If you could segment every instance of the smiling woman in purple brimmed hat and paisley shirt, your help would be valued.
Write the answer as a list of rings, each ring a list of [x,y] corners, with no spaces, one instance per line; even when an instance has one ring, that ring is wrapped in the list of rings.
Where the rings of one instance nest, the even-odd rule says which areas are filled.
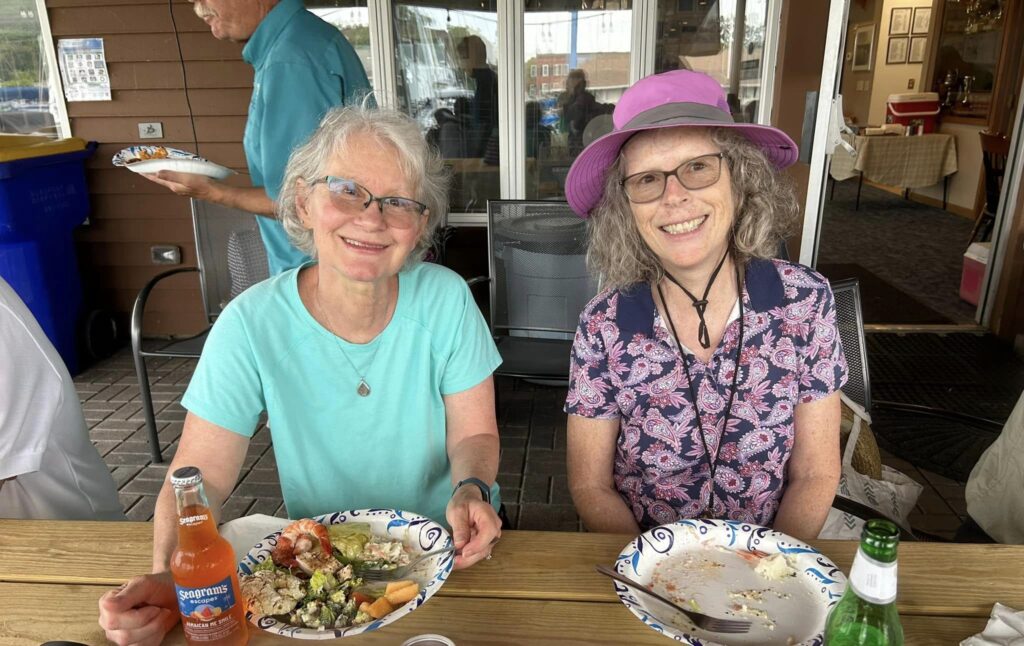
[[[840,476],[847,368],[828,283],[773,259],[798,203],[781,131],[689,71],[626,91],[575,160],[604,290],[580,316],[568,481],[588,528],[727,518],[813,539]],[[738,367],[738,368],[737,368]]]

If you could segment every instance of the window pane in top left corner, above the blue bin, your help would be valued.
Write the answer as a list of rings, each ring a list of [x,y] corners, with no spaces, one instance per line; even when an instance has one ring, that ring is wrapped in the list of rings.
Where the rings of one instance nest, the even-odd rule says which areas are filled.
[[[58,136],[35,0],[0,2],[0,132]]]

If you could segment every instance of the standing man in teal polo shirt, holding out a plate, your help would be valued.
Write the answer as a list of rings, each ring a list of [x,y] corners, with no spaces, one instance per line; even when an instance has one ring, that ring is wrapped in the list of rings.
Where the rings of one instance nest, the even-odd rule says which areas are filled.
[[[243,143],[252,187],[203,175],[146,175],[179,196],[257,215],[270,275],[307,260],[292,247],[275,217],[275,202],[292,149],[306,140],[328,110],[362,100],[366,70],[341,32],[305,9],[302,0],[195,0],[213,37],[246,43],[242,57],[255,72]]]

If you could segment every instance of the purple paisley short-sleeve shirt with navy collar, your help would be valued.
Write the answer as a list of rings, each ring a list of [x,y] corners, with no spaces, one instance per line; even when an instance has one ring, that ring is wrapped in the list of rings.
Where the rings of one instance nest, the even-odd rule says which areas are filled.
[[[689,355],[698,420],[683,358],[648,285],[605,291],[580,316],[565,411],[620,421],[614,484],[641,527],[702,514],[771,525],[785,487],[796,406],[846,383],[824,277],[781,260],[753,260],[742,299],[728,428],[738,318],[707,364]]]

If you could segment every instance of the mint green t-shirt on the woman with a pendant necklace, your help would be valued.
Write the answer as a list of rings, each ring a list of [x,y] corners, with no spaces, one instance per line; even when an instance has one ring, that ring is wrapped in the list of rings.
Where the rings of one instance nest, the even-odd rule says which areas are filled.
[[[291,518],[393,508],[446,524],[443,396],[476,386],[501,363],[469,288],[435,264],[402,270],[391,321],[358,345],[312,317],[299,298],[299,271],[228,304],[182,405],[247,437],[266,411]],[[359,374],[346,354],[369,396],[356,394]],[[497,508],[497,484],[492,501]]]

